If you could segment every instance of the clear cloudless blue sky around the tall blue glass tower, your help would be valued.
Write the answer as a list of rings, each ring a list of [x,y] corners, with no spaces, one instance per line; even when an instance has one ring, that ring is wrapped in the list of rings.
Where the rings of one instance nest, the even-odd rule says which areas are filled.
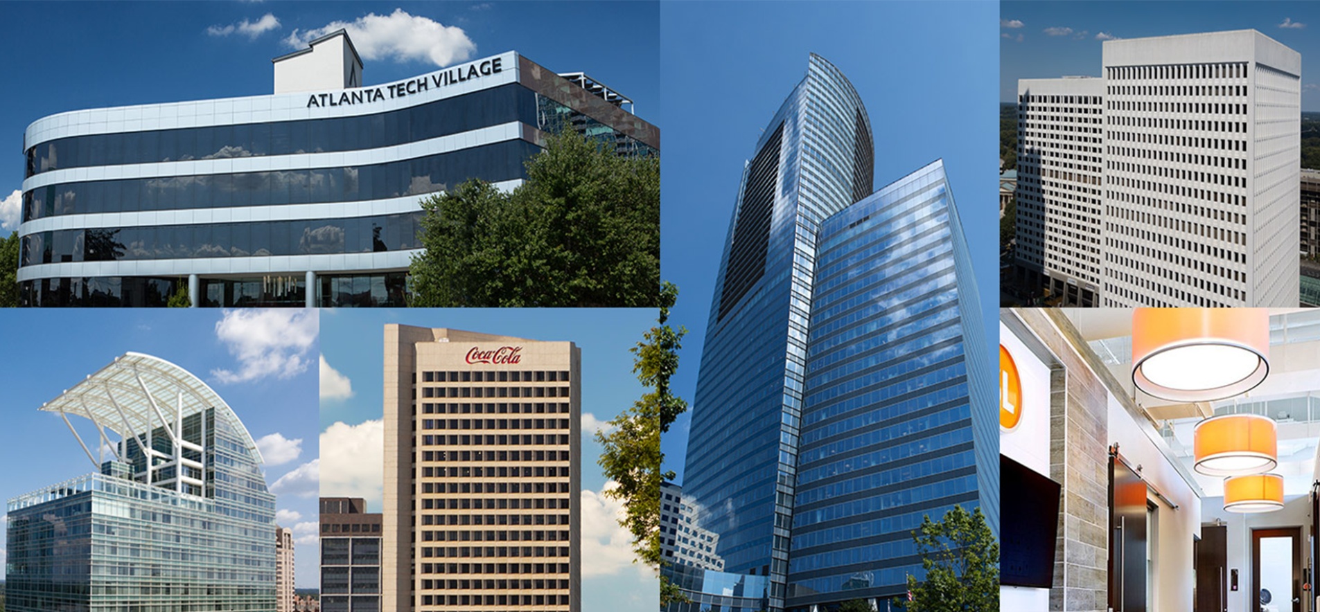
[[[688,327],[675,390],[692,401],[714,277],[743,161],[818,53],[871,116],[875,187],[936,158],[970,235],[986,322],[997,321],[995,3],[664,3],[661,276]],[[978,102],[981,100],[981,102]],[[989,348],[987,348],[989,350]],[[688,415],[661,442],[680,472]]]

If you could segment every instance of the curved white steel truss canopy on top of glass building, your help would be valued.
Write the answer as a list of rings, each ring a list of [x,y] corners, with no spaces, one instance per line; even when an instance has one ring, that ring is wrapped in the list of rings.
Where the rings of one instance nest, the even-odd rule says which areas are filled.
[[[205,413],[210,408],[215,409],[216,418],[230,419],[242,433],[252,458],[261,463],[261,452],[252,434],[219,393],[191,372],[152,355],[125,352],[41,405],[41,410],[65,417],[66,423],[69,414],[91,421],[103,441],[108,441],[106,430],[117,433],[123,439],[141,435],[145,441],[147,435],[162,426],[172,438],[180,439],[182,431],[174,431],[178,423],[185,417]],[[69,429],[73,430],[73,426]],[[77,431],[74,435],[78,437]],[[82,438],[78,438],[82,443]],[[83,450],[87,450],[86,444]]]

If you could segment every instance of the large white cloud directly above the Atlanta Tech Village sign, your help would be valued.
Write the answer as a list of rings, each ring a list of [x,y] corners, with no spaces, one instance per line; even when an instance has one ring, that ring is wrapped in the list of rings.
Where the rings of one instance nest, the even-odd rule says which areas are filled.
[[[323,28],[293,30],[284,42],[290,47],[305,47],[308,42],[339,29],[348,32],[352,46],[363,59],[420,59],[449,66],[477,51],[477,44],[467,38],[462,28],[408,15],[401,8],[389,15],[367,13],[355,21],[331,21]]]

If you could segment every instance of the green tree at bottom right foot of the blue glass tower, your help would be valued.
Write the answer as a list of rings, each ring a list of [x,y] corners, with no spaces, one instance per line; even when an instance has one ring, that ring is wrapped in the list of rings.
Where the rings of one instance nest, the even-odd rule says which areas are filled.
[[[912,532],[925,582],[908,576],[912,601],[895,599],[908,612],[998,612],[999,543],[981,508],[968,513],[956,505],[940,522],[923,517]]]

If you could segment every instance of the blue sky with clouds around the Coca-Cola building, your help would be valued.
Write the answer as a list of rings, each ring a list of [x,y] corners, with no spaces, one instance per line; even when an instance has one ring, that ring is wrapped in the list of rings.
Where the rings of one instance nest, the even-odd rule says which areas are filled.
[[[616,503],[599,496],[606,479],[589,431],[628,409],[644,392],[628,348],[655,324],[651,309],[326,310],[321,314],[321,427],[326,496],[366,497],[380,512],[384,326],[451,327],[532,340],[572,340],[582,351],[582,609],[652,611],[659,582],[632,565]],[[338,454],[338,459],[330,454]]]

